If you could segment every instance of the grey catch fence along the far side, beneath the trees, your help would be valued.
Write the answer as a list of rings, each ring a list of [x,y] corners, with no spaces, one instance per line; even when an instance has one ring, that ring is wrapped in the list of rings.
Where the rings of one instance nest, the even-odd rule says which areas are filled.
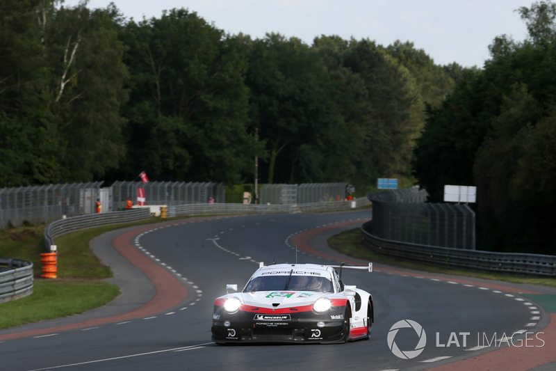
[[[43,224],[72,216],[95,214],[97,199],[101,213],[124,210],[126,200],[138,204],[143,189],[145,206],[226,203],[226,187],[216,182],[104,182],[50,184],[38,187],[0,189],[0,228]],[[344,200],[347,183],[263,184],[261,205],[300,205]],[[212,200],[211,200],[212,201]],[[156,209],[156,207],[155,207]]]

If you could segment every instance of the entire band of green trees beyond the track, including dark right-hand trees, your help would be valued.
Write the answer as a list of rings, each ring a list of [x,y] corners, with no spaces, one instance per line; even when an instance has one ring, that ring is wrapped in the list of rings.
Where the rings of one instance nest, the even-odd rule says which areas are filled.
[[[411,42],[230,35],[194,11],[0,0],[0,187],[132,180],[476,185],[477,246],[554,253],[556,19],[482,68]]]

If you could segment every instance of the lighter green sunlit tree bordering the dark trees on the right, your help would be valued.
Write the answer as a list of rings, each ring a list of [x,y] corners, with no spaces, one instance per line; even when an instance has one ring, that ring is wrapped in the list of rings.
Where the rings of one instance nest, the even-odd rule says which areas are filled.
[[[366,156],[361,161],[370,161],[377,176],[410,176],[414,139],[423,125],[414,77],[370,40],[351,40],[345,66],[361,77],[368,94],[367,121],[359,123]]]

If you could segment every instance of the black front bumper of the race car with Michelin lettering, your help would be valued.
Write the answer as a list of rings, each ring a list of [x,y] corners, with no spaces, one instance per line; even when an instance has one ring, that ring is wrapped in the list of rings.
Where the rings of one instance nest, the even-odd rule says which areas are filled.
[[[325,313],[302,312],[275,315],[217,308],[213,315],[212,340],[225,342],[343,342],[343,309]]]

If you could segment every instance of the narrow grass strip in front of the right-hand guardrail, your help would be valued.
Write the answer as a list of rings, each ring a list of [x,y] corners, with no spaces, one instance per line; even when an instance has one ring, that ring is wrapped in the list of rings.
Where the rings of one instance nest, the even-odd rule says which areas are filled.
[[[400,267],[407,269],[415,269],[418,271],[427,271],[438,274],[450,274],[455,276],[466,276],[473,278],[483,278],[487,280],[503,281],[509,283],[523,283],[530,285],[543,285],[556,287],[556,280],[554,278],[530,278],[509,276],[505,274],[489,274],[479,271],[466,271],[463,269],[446,269],[434,265],[427,265],[423,262],[415,262],[413,260],[406,260],[403,258],[396,258],[390,255],[382,255],[369,250],[361,244],[361,230],[359,228],[354,230],[346,230],[338,235],[331,237],[328,244],[334,250],[343,253],[344,255],[352,256],[370,262],[379,264],[390,265],[392,267]]]

